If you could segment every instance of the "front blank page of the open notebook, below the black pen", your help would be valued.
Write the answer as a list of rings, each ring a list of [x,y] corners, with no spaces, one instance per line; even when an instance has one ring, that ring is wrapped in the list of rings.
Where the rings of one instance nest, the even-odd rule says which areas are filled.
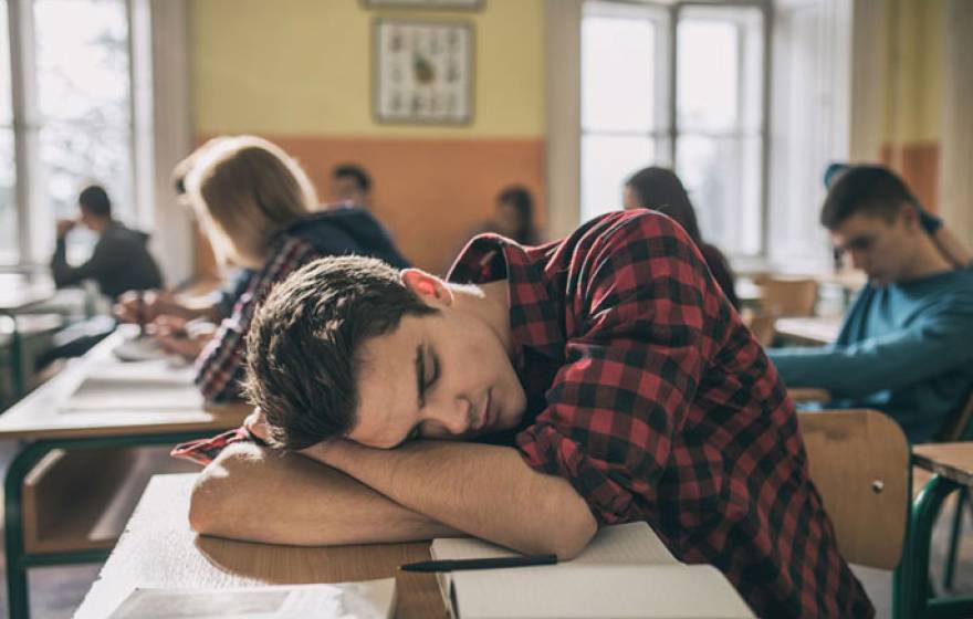
[[[746,604],[707,565],[523,567],[452,574],[462,619],[745,619]]]

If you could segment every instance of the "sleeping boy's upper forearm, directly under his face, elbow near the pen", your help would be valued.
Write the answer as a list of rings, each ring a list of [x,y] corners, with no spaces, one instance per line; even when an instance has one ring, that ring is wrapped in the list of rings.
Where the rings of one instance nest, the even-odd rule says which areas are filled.
[[[523,553],[568,558],[597,529],[567,481],[534,471],[511,448],[416,441],[377,450],[337,441],[306,453],[410,510]]]

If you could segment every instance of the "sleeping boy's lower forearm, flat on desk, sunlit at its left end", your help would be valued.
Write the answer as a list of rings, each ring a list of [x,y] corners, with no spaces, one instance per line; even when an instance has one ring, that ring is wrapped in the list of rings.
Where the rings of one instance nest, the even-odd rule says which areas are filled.
[[[301,546],[457,534],[329,466],[252,443],[227,448],[200,473],[189,521],[206,535]]]

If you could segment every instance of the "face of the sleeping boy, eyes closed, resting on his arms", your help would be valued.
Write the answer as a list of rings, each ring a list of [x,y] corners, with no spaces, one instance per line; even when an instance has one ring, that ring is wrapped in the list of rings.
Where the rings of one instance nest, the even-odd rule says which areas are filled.
[[[468,313],[426,302],[439,313],[406,316],[364,344],[348,439],[388,449],[409,438],[470,439],[520,423],[526,396],[496,333]]]

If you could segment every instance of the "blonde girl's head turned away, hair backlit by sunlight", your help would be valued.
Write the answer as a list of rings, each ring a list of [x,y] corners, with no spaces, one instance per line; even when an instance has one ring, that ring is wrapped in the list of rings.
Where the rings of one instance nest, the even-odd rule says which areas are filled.
[[[259,267],[275,232],[317,202],[301,166],[253,136],[228,137],[199,154],[187,195],[218,260]]]

